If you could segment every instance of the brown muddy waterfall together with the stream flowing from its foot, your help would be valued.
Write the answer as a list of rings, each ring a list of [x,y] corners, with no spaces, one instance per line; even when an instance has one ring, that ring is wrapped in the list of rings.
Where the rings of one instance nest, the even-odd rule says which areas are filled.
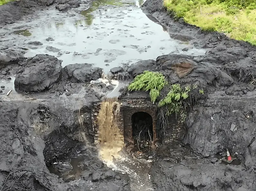
[[[98,115],[99,157],[113,170],[129,175],[131,190],[154,190],[150,182],[150,164],[139,162],[122,152],[124,137],[119,130],[119,111],[117,97],[107,98],[101,103]]]

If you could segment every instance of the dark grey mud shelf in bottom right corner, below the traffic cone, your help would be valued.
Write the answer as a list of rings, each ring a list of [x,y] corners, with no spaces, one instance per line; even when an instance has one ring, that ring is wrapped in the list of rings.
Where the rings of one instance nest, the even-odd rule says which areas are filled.
[[[210,164],[209,164],[210,163]],[[157,161],[153,182],[160,190],[254,190],[255,173],[241,166],[211,164],[211,160],[185,159],[175,164]]]

